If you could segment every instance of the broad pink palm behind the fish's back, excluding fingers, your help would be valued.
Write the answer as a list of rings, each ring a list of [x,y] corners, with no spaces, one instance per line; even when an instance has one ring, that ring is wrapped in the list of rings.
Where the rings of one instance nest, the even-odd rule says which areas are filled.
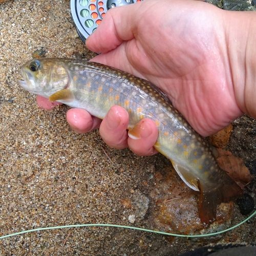
[[[185,11],[180,16],[182,8]],[[158,7],[156,13],[154,1],[148,1],[144,8],[136,10],[136,16],[143,19],[136,20],[132,35],[119,32],[117,27],[124,41],[119,44],[110,34],[109,44],[113,48],[116,44],[116,48],[94,60],[156,84],[194,129],[206,136],[242,112],[233,95],[221,16],[215,7],[202,8],[205,3],[179,1],[176,5],[172,1],[172,10],[167,11],[169,16],[162,24],[166,5]],[[216,26],[212,26],[214,23]],[[88,40],[89,48],[94,48],[92,44],[94,41]]]

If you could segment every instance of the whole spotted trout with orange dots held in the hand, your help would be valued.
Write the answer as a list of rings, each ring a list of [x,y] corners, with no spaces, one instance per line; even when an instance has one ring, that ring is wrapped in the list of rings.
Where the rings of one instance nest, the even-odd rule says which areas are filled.
[[[139,138],[136,124],[151,118],[158,127],[156,150],[167,157],[185,184],[200,191],[203,225],[216,219],[217,206],[241,197],[242,189],[222,170],[205,140],[194,131],[154,84],[101,63],[39,58],[20,69],[18,83],[30,93],[87,110],[103,119],[113,105],[129,114],[129,136]]]

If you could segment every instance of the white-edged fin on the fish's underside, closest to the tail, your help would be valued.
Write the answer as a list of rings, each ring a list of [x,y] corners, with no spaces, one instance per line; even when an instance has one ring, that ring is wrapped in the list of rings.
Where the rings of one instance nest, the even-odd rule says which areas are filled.
[[[186,183],[187,186],[192,188],[193,190],[199,191],[198,187],[198,177],[196,177],[192,172],[189,172],[186,168],[183,166],[180,166],[176,162],[172,161],[172,164],[178,173],[178,175],[181,177],[181,179]]]

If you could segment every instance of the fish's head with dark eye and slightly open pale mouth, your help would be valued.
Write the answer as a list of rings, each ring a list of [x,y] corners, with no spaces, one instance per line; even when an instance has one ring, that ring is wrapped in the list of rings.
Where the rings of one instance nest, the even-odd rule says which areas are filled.
[[[70,86],[70,74],[61,59],[32,59],[21,67],[20,73],[24,78],[18,80],[22,88],[46,98]]]

